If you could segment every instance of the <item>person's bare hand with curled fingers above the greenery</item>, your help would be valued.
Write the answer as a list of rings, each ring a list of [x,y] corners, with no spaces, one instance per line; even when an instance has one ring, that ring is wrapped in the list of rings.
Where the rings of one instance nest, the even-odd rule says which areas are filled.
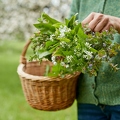
[[[82,25],[83,27],[84,25],[88,25],[94,32],[110,30],[110,27],[112,26],[120,33],[120,18],[101,13],[92,12],[82,21]]]

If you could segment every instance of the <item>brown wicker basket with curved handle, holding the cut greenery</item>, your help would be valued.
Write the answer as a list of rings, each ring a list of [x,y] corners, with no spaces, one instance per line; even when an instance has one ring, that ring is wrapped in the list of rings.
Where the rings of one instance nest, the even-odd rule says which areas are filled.
[[[28,62],[25,58],[28,41],[22,51],[17,72],[27,102],[38,110],[56,111],[70,107],[76,98],[76,84],[80,73],[65,78],[43,76],[47,64],[51,62]]]

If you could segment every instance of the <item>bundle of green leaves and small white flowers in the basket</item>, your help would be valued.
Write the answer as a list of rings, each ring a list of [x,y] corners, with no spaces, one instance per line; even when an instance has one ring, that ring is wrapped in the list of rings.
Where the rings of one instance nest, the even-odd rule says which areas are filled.
[[[42,13],[34,24],[37,32],[31,37],[34,52],[31,60],[51,61],[52,71],[47,76],[64,76],[78,71],[96,76],[103,61],[117,70],[112,64],[112,57],[120,48],[113,42],[116,31],[92,32],[82,27],[76,15],[60,22]]]

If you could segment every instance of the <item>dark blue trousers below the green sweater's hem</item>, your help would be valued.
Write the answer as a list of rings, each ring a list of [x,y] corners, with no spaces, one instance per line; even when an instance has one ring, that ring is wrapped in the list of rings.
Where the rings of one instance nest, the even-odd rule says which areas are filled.
[[[120,120],[120,105],[78,104],[78,120]]]

